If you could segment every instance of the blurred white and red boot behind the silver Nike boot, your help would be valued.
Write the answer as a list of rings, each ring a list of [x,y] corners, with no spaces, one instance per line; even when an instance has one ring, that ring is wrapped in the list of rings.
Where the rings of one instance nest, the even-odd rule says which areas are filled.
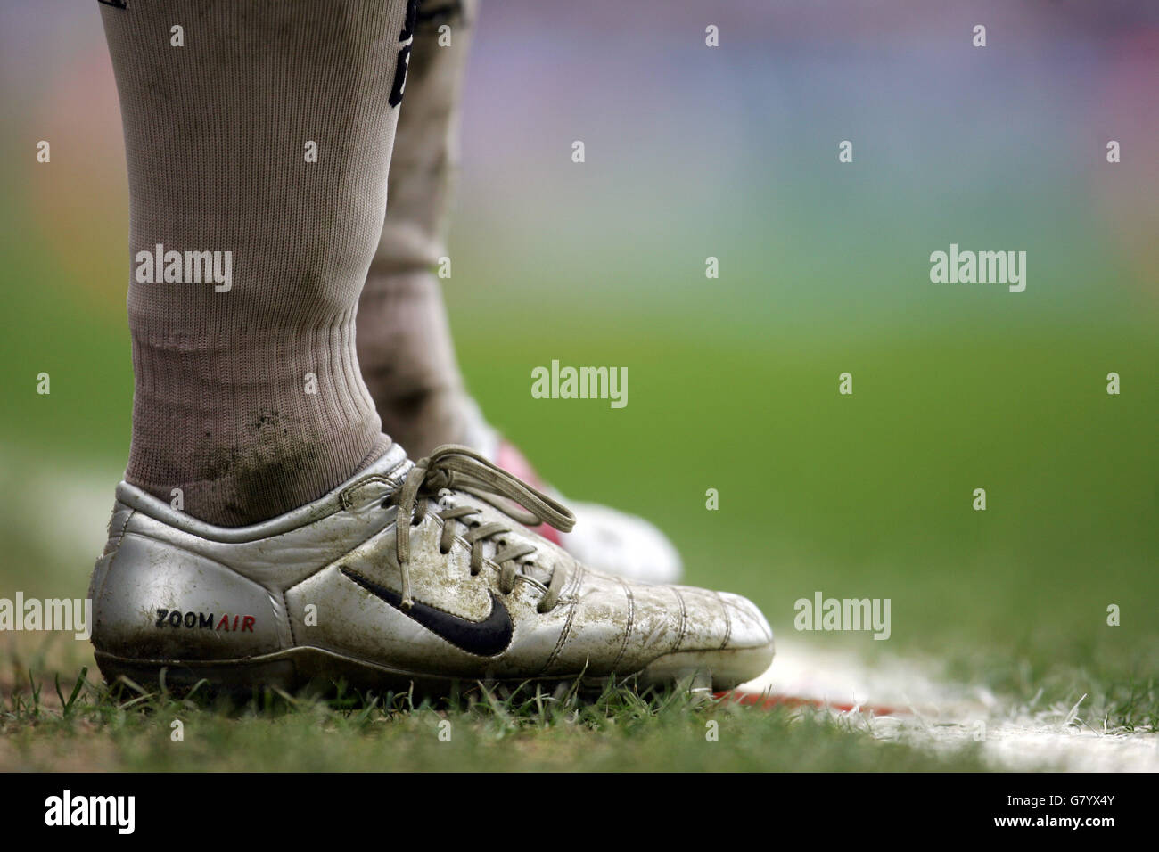
[[[561,532],[544,525],[535,530],[578,561],[597,570],[639,583],[675,583],[680,578],[680,554],[659,530],[635,515],[598,503],[568,500],[544,483],[522,452],[491,427],[474,400],[466,401],[464,443],[489,461],[527,482],[575,512],[575,529]]]

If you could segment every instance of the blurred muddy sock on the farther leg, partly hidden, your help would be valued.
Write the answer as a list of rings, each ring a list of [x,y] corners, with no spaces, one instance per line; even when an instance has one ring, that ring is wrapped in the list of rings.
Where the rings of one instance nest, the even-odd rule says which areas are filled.
[[[418,9],[381,239],[358,304],[358,361],[386,431],[411,457],[462,442],[469,399],[433,271],[458,166],[459,101],[478,3]]]

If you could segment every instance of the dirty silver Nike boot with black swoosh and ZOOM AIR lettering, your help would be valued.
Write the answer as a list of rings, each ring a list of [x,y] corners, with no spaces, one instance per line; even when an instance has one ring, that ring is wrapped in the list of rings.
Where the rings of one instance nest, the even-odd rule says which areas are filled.
[[[96,660],[110,682],[228,691],[724,690],[765,671],[772,632],[745,598],[613,577],[523,525],[573,519],[455,445],[417,464],[393,445],[321,500],[240,529],[122,482],[89,590]]]

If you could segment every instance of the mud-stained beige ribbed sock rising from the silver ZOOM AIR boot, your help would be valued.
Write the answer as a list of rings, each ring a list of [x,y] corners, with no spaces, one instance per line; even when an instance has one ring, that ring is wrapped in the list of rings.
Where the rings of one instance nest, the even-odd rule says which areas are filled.
[[[108,0],[101,16],[129,162],[125,479],[257,523],[389,445],[355,312],[414,3]]]

